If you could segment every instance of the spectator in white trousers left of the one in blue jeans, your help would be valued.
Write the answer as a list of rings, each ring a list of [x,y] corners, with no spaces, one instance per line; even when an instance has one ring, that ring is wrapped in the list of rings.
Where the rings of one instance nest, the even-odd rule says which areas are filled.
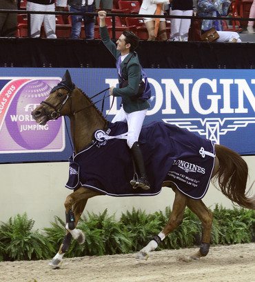
[[[54,0],[28,0],[28,11],[54,12]],[[47,38],[55,39],[56,36],[56,16],[54,14],[31,14],[31,37],[37,38],[41,35],[41,25],[43,23]]]

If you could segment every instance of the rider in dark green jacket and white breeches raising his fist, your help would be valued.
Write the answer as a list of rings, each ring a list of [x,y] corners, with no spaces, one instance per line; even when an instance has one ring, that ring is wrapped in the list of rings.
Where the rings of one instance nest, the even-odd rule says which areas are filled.
[[[121,110],[116,114],[112,123],[116,121],[128,123],[127,143],[134,159],[134,175],[136,176],[136,179],[134,177],[130,184],[134,189],[141,187],[147,190],[150,189],[150,183],[147,181],[143,154],[139,148],[138,140],[147,109],[150,108],[150,103],[147,101],[149,97],[141,97],[141,94],[145,94],[146,90],[147,93],[150,92],[150,85],[147,81],[144,83],[142,80],[145,77],[145,72],[141,68],[136,52],[134,52],[139,46],[139,38],[134,32],[125,30],[116,44],[113,43],[108,34],[105,17],[106,12],[99,11],[100,35],[105,46],[117,60],[120,85],[119,88],[111,87],[110,95],[122,98]]]

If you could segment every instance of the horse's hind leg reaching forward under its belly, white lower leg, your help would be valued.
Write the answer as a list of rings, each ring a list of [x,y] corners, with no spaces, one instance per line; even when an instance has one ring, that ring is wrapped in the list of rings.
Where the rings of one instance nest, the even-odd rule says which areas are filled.
[[[172,208],[172,213],[167,221],[165,228],[143,248],[138,254],[136,254],[136,259],[147,259],[149,257],[149,252],[154,251],[161,241],[170,234],[175,228],[177,228],[183,221],[183,213],[186,208],[187,197],[181,194],[179,190],[174,189],[175,199]]]

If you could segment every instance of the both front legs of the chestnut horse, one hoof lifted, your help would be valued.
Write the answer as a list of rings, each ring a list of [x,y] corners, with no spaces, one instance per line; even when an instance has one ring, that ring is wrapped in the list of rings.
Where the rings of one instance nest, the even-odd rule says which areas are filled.
[[[76,229],[76,225],[83,213],[85,205],[88,199],[99,195],[98,192],[90,190],[88,188],[79,188],[72,194],[68,195],[65,199],[65,236],[59,252],[54,256],[49,265],[53,268],[59,268],[63,263],[63,255],[68,252],[72,236],[81,245],[85,241],[85,235],[79,229]]]

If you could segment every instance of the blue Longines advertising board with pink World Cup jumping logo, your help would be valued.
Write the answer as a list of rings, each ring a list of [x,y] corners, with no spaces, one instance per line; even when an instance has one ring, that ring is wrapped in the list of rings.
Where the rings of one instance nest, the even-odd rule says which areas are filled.
[[[72,154],[66,129],[68,119],[61,117],[42,126],[30,114],[61,81],[65,70],[1,68],[0,163],[68,161]],[[72,81],[89,97],[118,85],[114,68],[69,71]],[[172,123],[239,154],[255,154],[255,70],[146,69],[145,72],[152,88],[145,123]],[[101,98],[103,93],[98,99]],[[120,103],[119,97],[113,105],[112,97],[105,100],[103,114],[109,121]],[[97,105],[101,109],[101,102]]]

